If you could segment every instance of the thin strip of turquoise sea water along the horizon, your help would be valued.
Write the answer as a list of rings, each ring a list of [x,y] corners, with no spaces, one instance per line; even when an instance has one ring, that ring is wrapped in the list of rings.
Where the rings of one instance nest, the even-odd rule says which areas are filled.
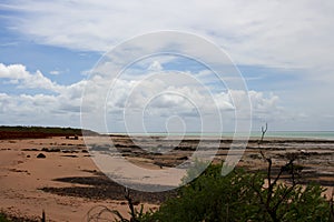
[[[127,133],[120,133],[127,134]],[[167,133],[129,133],[131,135],[157,135],[157,137],[166,137]],[[169,133],[169,135],[183,135],[183,133]],[[185,133],[186,137],[199,137],[200,133]],[[233,137],[233,132],[223,132],[220,133],[203,133],[203,137]],[[246,135],[246,133],[240,133],[239,135]],[[250,132],[250,138],[259,138],[262,132]],[[334,131],[267,131],[265,138],[287,138],[287,139],[325,139],[325,140],[334,140]]]

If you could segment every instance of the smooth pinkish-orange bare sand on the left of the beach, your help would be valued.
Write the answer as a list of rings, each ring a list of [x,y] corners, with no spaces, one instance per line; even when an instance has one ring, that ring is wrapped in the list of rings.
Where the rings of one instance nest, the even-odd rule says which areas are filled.
[[[61,148],[62,151],[41,152],[45,148],[55,147]],[[40,190],[42,188],[87,186],[53,181],[57,178],[92,176],[94,172],[98,171],[89,153],[79,150],[86,150],[82,139],[1,140],[1,211],[28,219],[38,219],[45,210],[48,221],[85,221],[86,213],[97,205],[106,205],[126,214],[128,208],[125,201],[57,195]],[[45,153],[46,158],[38,159],[39,153]],[[155,206],[155,204],[145,205]]]

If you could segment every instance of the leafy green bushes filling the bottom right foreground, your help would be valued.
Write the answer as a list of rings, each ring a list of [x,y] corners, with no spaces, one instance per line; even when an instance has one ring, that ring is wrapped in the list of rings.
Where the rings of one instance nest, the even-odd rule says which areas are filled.
[[[178,198],[140,221],[331,221],[320,185],[275,183],[271,191],[262,173],[234,170],[222,176],[220,169],[210,165],[180,188]]]

